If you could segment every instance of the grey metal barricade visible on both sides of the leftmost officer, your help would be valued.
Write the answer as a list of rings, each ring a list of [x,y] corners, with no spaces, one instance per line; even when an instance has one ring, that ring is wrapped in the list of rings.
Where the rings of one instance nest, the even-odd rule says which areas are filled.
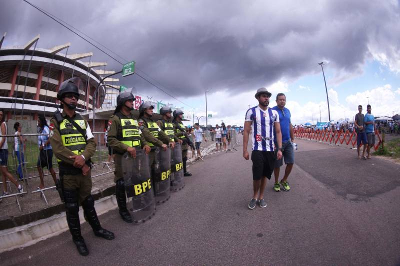
[[[108,156],[108,148],[105,146],[104,139],[105,132],[93,132],[96,139],[96,151],[91,157],[93,167],[91,169],[91,178],[106,175],[113,172],[112,165],[113,160]],[[49,169],[42,165],[43,160],[39,160],[40,150],[37,144],[38,136],[46,136],[46,134],[20,134],[22,142],[19,142],[16,146],[14,145],[15,135],[0,135],[0,137],[7,138],[8,145],[8,172],[14,177],[18,184],[22,184],[23,192],[19,193],[8,178],[2,176],[0,184],[2,186],[2,194],[0,194],[0,200],[3,198],[15,197],[16,204],[21,210],[18,196],[24,194],[35,194],[40,193],[41,198],[48,204],[45,192],[48,190],[55,189],[52,173],[58,174],[58,164],[55,156],[52,156],[52,169]],[[20,151],[20,152],[19,152]],[[49,155],[48,150],[42,151],[42,153]],[[18,169],[19,168],[19,169]],[[49,167],[51,169],[51,167]],[[42,184],[40,182],[40,170],[43,172]],[[8,195],[4,192],[7,191]]]

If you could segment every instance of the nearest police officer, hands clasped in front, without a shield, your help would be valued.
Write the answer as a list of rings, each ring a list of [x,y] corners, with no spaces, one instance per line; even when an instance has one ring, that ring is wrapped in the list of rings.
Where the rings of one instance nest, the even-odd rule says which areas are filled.
[[[79,85],[82,81],[78,77],[65,80],[60,85],[57,99],[63,110],[62,113],[56,111],[50,121],[50,144],[58,162],[69,232],[79,254],[86,256],[89,251],[80,234],[78,203],[95,236],[111,240],[114,234],[100,226],[90,195],[90,157],[95,152],[96,143],[86,120],[75,113]]]

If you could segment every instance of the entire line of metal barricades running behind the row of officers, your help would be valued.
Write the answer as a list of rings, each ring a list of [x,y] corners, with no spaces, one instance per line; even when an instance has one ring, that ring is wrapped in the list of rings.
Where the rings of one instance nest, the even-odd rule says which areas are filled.
[[[189,163],[192,163],[196,158],[198,160],[203,160],[204,156],[219,152],[232,152],[235,150],[235,146],[239,143],[237,140],[237,133],[235,130],[229,130],[226,137],[221,138],[221,144],[216,142],[214,132],[203,132],[204,137],[207,141],[202,140],[200,144],[201,157],[197,157],[195,151],[190,147],[188,149]],[[106,132],[93,132],[96,141],[96,151],[91,157],[93,167],[91,169],[91,178],[96,178],[98,176],[106,175],[112,173],[113,170],[113,158],[109,156],[109,150],[106,146]],[[49,190],[55,189],[55,184],[53,181],[52,174],[58,175],[58,164],[56,162],[55,156],[52,156],[52,169],[53,172],[49,171],[44,165],[41,164],[42,160],[39,160],[40,150],[37,144],[38,136],[46,136],[46,134],[20,134],[23,142],[14,146],[14,140],[17,138],[15,135],[0,135],[0,137],[7,138],[8,145],[8,172],[14,177],[18,184],[22,184],[23,192],[19,193],[16,186],[12,184],[8,178],[2,176],[0,181],[0,186],[4,191],[8,192],[8,195],[0,194],[0,200],[4,198],[14,197],[16,205],[20,212],[22,212],[21,205],[19,204],[19,196],[25,194],[36,194],[39,193],[43,202],[47,205],[48,201],[46,198],[46,193]],[[194,134],[189,134],[195,145]],[[223,145],[225,142],[226,146]],[[218,148],[218,150],[216,150]],[[18,152],[17,151],[22,151]],[[42,151],[44,153],[48,151]],[[112,149],[110,149],[110,154],[112,154]],[[20,160],[18,160],[18,156]],[[18,171],[18,167],[20,168]],[[51,167],[50,167],[51,168]],[[40,170],[43,171],[42,184],[40,181]]]

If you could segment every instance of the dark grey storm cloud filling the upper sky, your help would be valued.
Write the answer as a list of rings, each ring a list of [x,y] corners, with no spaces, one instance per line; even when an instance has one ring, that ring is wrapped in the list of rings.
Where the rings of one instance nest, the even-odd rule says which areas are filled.
[[[321,60],[342,80],[360,73],[373,53],[398,57],[395,1],[32,2],[125,58],[119,60],[134,59],[176,95],[253,90],[319,72]],[[0,15],[5,44],[23,44],[40,33],[40,47],[70,41],[70,52],[93,51],[93,61],[120,68],[23,1],[3,0]],[[121,83],[156,91],[137,76]]]

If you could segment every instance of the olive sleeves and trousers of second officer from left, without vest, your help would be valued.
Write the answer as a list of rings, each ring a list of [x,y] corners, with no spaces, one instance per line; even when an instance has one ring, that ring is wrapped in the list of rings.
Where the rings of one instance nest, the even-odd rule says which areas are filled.
[[[121,112],[119,112],[118,115],[123,118],[133,119],[134,122],[137,123],[137,120],[131,113],[128,116],[125,116]],[[117,115],[111,115],[108,121],[107,142],[108,146],[111,147],[112,150],[115,152],[115,157],[122,156],[122,154],[125,153],[129,147],[127,144],[118,140],[118,134],[121,134],[120,132],[118,133],[118,130],[121,130],[121,120]],[[138,144],[138,146],[143,148],[144,145],[148,145],[147,141],[145,140],[145,136],[147,137],[152,136],[152,134],[149,133],[148,131],[147,132],[139,131],[139,133],[140,133],[140,143]],[[115,159],[114,182],[122,178],[122,169],[121,166],[117,163],[120,161],[121,160],[118,160],[117,158]]]

